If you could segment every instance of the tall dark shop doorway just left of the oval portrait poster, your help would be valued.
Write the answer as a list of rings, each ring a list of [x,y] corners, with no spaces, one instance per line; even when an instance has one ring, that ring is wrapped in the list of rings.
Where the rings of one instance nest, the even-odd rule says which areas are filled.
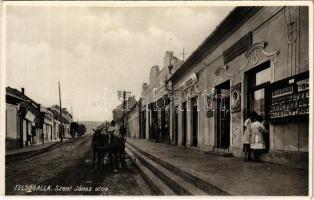
[[[216,87],[217,98],[217,147],[227,149],[230,146],[230,82]]]

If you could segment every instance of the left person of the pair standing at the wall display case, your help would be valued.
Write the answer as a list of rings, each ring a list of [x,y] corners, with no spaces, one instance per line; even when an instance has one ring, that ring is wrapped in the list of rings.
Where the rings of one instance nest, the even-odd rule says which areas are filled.
[[[243,152],[244,152],[244,162],[251,160],[251,123],[255,121],[257,113],[255,111],[249,114],[249,117],[245,120],[243,124]]]

